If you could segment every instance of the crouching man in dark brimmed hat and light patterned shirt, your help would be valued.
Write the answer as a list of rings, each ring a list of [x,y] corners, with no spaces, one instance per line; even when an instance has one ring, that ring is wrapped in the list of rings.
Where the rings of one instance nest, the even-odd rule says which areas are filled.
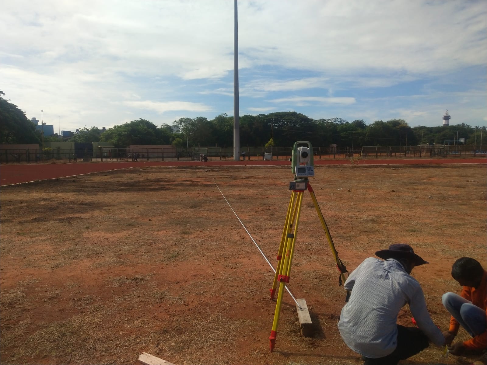
[[[366,258],[345,282],[345,289],[352,292],[338,322],[345,344],[362,355],[364,365],[395,365],[430,342],[445,346],[445,337],[431,321],[423,290],[410,275],[415,266],[428,261],[407,244],[393,244],[375,255],[384,261]],[[396,323],[406,303],[418,327]]]

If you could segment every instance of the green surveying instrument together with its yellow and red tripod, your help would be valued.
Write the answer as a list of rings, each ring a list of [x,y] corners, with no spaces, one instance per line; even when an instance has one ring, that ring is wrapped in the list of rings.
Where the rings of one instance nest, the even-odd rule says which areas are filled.
[[[305,190],[308,190],[310,192],[311,199],[313,200],[313,204],[315,205],[316,212],[318,213],[318,218],[326,233],[328,243],[330,245],[333,256],[337,263],[337,268],[340,272],[340,276],[338,279],[339,285],[345,282],[345,273],[347,273],[347,269],[345,265],[341,262],[341,260],[338,257],[338,253],[337,250],[335,249],[335,245],[333,244],[330,231],[328,230],[325,219],[323,218],[323,214],[319,209],[319,205],[318,205],[318,201],[316,200],[315,193],[308,180],[308,177],[315,176],[315,168],[314,168],[314,161],[313,161],[313,147],[311,146],[311,143],[305,141],[296,142],[293,146],[291,161],[292,161],[291,170],[294,174],[294,181],[289,183],[289,190],[291,190],[291,199],[289,201],[289,205],[287,208],[287,215],[284,223],[284,229],[282,230],[281,244],[279,246],[279,253],[277,256],[278,266],[276,269],[276,274],[274,276],[274,282],[272,283],[272,288],[270,290],[271,299],[274,299],[277,283],[279,282],[279,293],[276,301],[276,310],[274,312],[274,322],[272,324],[271,335],[269,336],[271,351],[274,349],[274,346],[276,345],[277,327],[279,322],[279,314],[281,311],[282,296],[284,294],[284,287],[286,283],[289,282],[289,277],[291,274],[291,264],[293,261],[296,237],[298,236],[298,226],[299,226],[299,220],[301,214],[301,205],[303,199],[303,192]],[[345,301],[348,301],[349,295],[350,293],[347,292]],[[301,301],[300,303],[303,305],[300,305],[298,301]],[[303,299],[298,299],[298,301],[296,302],[298,311],[300,310],[307,311],[306,302]],[[298,312],[298,314],[300,313]],[[309,318],[309,314],[308,314],[308,318]]]

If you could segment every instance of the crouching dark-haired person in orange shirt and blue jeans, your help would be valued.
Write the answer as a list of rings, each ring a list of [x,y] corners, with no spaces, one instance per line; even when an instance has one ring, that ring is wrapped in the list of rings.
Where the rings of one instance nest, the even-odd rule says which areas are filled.
[[[451,267],[451,276],[463,286],[460,295],[448,292],[442,302],[450,312],[450,329],[443,332],[452,355],[481,354],[487,349],[487,271],[471,257],[461,257]],[[462,326],[472,336],[451,345]]]

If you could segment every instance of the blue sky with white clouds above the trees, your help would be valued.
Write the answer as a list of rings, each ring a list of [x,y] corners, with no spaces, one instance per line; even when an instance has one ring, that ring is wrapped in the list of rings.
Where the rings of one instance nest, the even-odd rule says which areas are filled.
[[[54,131],[233,116],[234,1],[16,0],[0,90]],[[238,2],[240,115],[487,125],[487,1]]]

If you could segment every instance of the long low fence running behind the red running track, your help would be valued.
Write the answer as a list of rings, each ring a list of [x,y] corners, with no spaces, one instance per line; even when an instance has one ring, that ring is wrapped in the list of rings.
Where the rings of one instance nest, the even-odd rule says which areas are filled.
[[[292,147],[241,147],[241,160],[289,160]],[[487,146],[363,146],[363,147],[314,147],[315,159],[352,158],[431,158],[486,156]],[[0,163],[42,162],[117,162],[117,161],[199,161],[200,154],[209,161],[233,160],[233,148],[44,148],[2,149]]]

